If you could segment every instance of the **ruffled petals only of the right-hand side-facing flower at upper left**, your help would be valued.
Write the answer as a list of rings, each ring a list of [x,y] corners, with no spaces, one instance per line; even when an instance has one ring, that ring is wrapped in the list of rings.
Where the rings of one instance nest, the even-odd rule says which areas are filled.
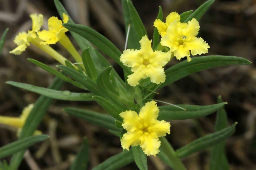
[[[38,37],[45,41],[41,42],[41,44],[55,44],[57,41],[62,39],[65,36],[65,32],[68,31],[67,28],[62,26],[62,23],[68,22],[68,16],[66,14],[62,14],[63,22],[59,20],[57,17],[51,17],[48,19],[48,28],[49,30],[39,31]]]

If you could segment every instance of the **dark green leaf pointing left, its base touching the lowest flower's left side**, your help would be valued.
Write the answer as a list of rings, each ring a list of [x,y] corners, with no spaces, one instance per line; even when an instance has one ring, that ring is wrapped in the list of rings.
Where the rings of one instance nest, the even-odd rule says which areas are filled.
[[[63,109],[69,115],[83,119],[93,125],[100,126],[103,128],[120,131],[115,126],[115,119],[107,114],[102,114],[90,110],[67,107]]]

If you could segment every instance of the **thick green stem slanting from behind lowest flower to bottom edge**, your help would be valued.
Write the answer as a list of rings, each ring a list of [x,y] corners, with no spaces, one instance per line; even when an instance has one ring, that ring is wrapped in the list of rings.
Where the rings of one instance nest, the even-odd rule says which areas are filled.
[[[167,139],[165,137],[161,137],[159,139],[161,141],[161,146],[159,150],[160,152],[164,152],[168,156],[170,162],[173,165],[172,168],[174,170],[186,170],[186,167],[184,166],[182,161],[176,156],[175,150],[167,141]]]

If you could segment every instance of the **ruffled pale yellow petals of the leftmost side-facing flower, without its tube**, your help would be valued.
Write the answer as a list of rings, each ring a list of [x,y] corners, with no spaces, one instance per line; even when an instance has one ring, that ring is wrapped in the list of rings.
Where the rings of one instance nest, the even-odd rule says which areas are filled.
[[[27,46],[30,45],[30,41],[37,38],[36,32],[38,32],[43,25],[43,16],[42,14],[31,14],[29,16],[32,19],[32,30],[26,32],[20,32],[14,39],[15,44],[18,45],[10,53],[19,55],[26,50]]]

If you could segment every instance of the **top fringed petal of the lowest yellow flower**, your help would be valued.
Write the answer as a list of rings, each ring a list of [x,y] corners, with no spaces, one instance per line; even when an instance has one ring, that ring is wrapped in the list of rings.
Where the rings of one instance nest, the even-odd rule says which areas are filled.
[[[155,101],[150,101],[141,108],[139,116],[144,120],[144,126],[150,126],[156,122],[158,117],[159,108],[156,105]]]

